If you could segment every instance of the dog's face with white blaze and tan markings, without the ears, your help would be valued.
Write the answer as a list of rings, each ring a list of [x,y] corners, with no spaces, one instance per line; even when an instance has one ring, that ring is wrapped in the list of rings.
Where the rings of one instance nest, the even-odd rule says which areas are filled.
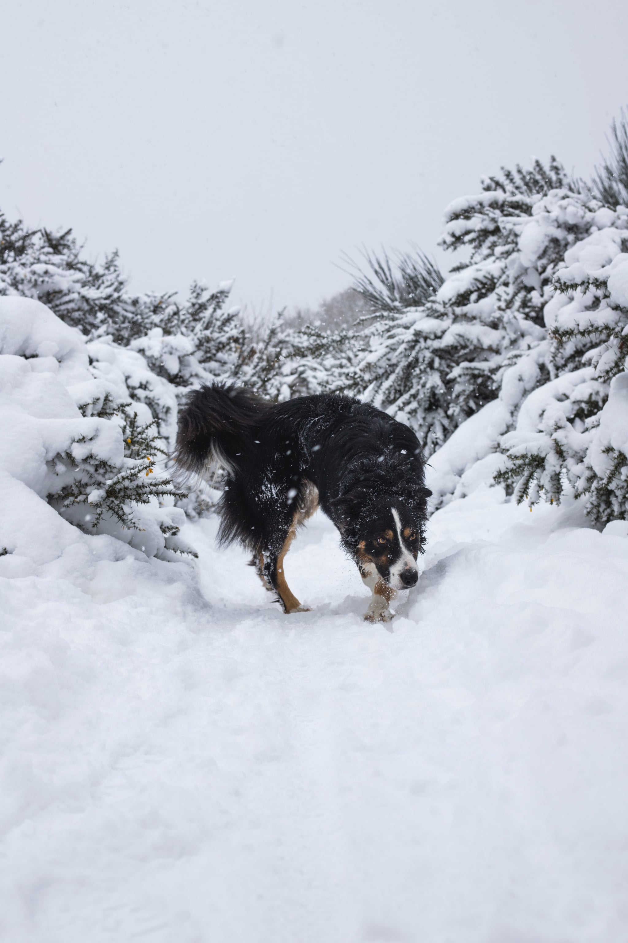
[[[378,575],[393,589],[410,589],[419,578],[416,557],[419,535],[412,521],[406,521],[402,507],[387,507],[369,522],[368,533],[360,541],[359,559],[364,575]]]

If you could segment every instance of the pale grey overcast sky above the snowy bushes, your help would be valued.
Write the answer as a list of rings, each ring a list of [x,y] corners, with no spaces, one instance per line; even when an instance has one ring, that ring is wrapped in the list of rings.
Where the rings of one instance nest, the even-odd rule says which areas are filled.
[[[627,36],[625,0],[5,0],[0,207],[136,290],[313,306],[343,252],[432,251],[481,174],[589,174]]]

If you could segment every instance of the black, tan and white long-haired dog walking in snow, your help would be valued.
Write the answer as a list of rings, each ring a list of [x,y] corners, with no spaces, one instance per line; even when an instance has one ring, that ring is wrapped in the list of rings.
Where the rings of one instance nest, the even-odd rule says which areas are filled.
[[[392,619],[399,589],[415,586],[427,498],[421,445],[411,429],[349,396],[269,403],[250,389],[212,384],[189,394],[174,460],[209,478],[226,470],[221,544],[248,548],[285,613],[308,611],[288,587],[285,554],[318,506],[338,528],[372,598],[364,619]]]

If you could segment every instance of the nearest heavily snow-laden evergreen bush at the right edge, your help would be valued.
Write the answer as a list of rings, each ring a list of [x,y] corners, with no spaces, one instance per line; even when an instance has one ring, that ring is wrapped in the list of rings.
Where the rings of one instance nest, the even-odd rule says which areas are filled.
[[[592,520],[610,521],[628,517],[628,209],[590,216],[590,234],[565,254],[545,306],[558,375],[524,400],[501,440],[508,463],[498,477],[530,505],[541,496],[557,502],[571,487]]]

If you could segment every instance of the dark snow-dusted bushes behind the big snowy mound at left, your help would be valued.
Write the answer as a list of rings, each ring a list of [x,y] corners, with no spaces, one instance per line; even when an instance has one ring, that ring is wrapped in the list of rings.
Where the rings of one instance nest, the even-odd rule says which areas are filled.
[[[176,387],[238,375],[249,339],[239,308],[225,309],[232,285],[212,291],[195,282],[183,303],[172,293],[134,295],[117,253],[91,262],[72,230],[30,231],[0,213],[0,296],[37,299],[89,339],[130,346],[144,355],[151,373]],[[150,395],[144,402],[152,405]],[[156,411],[153,416],[164,420]]]

